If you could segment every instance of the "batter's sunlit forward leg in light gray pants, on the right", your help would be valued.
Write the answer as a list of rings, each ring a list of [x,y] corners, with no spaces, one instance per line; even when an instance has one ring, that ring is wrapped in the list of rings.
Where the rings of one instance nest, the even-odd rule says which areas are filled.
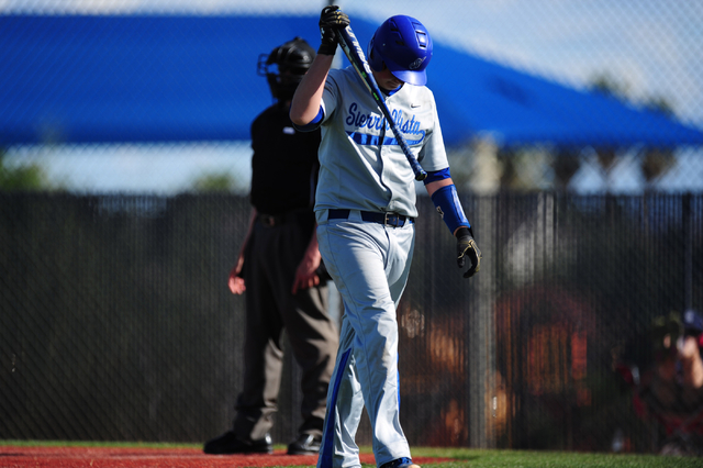
[[[409,457],[408,441],[398,421],[395,321],[395,301],[408,278],[409,265],[403,258],[408,259],[409,254],[397,249],[397,241],[391,241],[380,224],[333,221],[319,226],[317,237],[356,336],[354,370],[373,427],[376,459],[383,464]],[[409,226],[401,247],[410,249],[412,242],[413,226]]]

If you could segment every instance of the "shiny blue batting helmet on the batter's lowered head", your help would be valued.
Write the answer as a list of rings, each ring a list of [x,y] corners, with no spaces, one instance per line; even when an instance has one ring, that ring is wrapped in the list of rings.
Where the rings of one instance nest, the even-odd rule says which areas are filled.
[[[420,21],[399,14],[376,30],[366,55],[373,70],[382,71],[386,64],[395,78],[424,86],[425,69],[432,58],[432,38]]]

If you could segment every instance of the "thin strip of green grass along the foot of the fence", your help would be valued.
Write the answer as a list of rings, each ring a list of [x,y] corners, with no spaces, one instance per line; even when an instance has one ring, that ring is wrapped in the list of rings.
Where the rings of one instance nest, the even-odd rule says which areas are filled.
[[[0,441],[0,446],[53,447],[143,447],[143,448],[201,448],[201,444],[145,442],[65,442],[65,441]],[[284,448],[283,445],[276,448]],[[370,453],[369,447],[361,452]],[[701,468],[703,458],[663,457],[633,454],[581,454],[571,452],[532,452],[475,448],[413,447],[417,457],[453,458],[457,461],[427,465],[432,468]],[[373,468],[364,465],[365,468]],[[290,468],[290,467],[272,467]],[[310,468],[310,467],[308,467]]]

